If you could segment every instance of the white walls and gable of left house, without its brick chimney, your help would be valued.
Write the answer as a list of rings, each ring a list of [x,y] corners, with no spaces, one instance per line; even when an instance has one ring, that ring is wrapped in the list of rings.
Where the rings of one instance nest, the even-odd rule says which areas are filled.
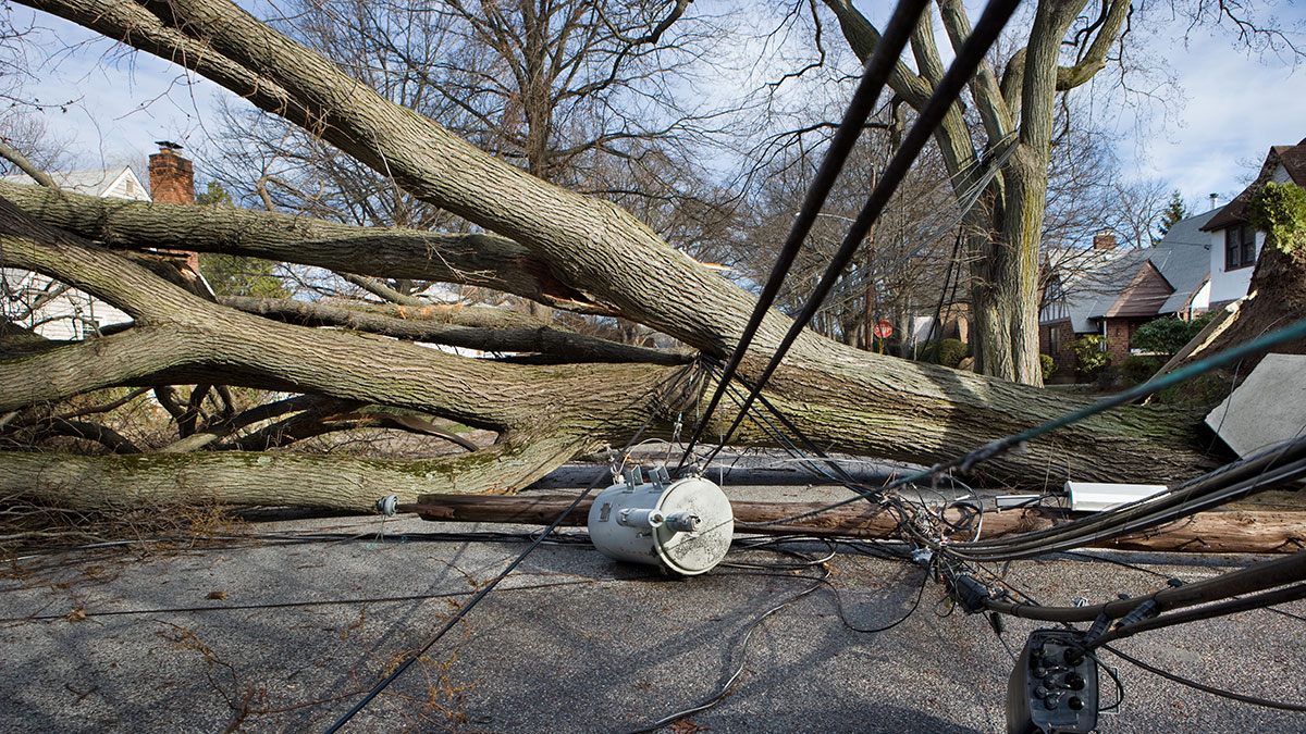
[[[88,196],[150,200],[141,179],[136,178],[129,166],[51,174],[51,178],[60,188]],[[4,176],[0,180],[33,185],[37,183],[26,174]],[[94,337],[103,327],[132,320],[103,300],[29,270],[0,269],[0,291],[4,294],[5,320],[48,340]]]

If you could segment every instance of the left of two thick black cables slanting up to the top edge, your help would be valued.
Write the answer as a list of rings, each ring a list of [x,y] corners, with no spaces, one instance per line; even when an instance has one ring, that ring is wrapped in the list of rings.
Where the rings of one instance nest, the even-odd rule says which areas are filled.
[[[906,43],[912,38],[912,33],[916,30],[921,14],[926,8],[929,8],[929,0],[900,0],[893,10],[893,16],[889,18],[888,26],[884,29],[883,37],[880,37],[880,42],[875,47],[875,52],[866,60],[866,65],[862,69],[862,80],[858,84],[857,90],[853,93],[853,99],[848,104],[848,111],[844,114],[844,119],[840,121],[838,129],[835,131],[835,136],[829,141],[829,149],[825,152],[825,157],[821,159],[816,176],[812,180],[811,187],[807,189],[807,195],[798,210],[798,215],[794,218],[794,223],[789,230],[789,236],[785,238],[785,243],[780,248],[780,256],[776,259],[776,264],[771,269],[767,285],[761,289],[761,294],[757,295],[757,304],[754,307],[752,315],[748,317],[748,324],[744,325],[743,332],[739,334],[739,341],[735,343],[734,351],[730,354],[730,360],[725,367],[725,376],[717,385],[716,392],[712,393],[712,398],[708,401],[708,406],[704,409],[703,417],[699,419],[697,426],[695,426],[693,434],[691,434],[690,440],[686,444],[684,455],[680,457],[680,464],[677,466],[677,470],[684,466],[686,457],[688,457],[690,452],[693,451],[693,447],[703,435],[703,430],[710,421],[717,404],[721,402],[721,398],[725,394],[725,385],[734,377],[744,354],[748,353],[748,345],[752,343],[754,337],[757,334],[757,329],[761,327],[761,321],[771,310],[771,304],[774,303],[776,296],[780,295],[780,287],[784,285],[785,276],[789,273],[794,260],[798,257],[798,252],[802,249],[803,242],[807,239],[807,234],[811,231],[812,225],[816,222],[816,217],[820,214],[821,205],[825,204],[825,197],[829,196],[829,192],[835,185],[835,180],[844,168],[844,162],[848,159],[849,153],[852,153],[853,146],[857,144],[857,138],[862,133],[866,119],[871,115],[880,93],[884,90],[884,85],[888,82],[889,73],[892,73],[893,67],[899,63],[899,56],[901,56],[902,50],[906,48]]]

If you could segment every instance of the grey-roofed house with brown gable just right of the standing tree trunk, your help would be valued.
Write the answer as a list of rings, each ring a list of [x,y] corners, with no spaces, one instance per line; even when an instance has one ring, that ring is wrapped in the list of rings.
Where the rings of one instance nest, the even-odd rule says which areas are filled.
[[[1071,374],[1077,358],[1071,342],[1087,334],[1106,337],[1119,363],[1143,324],[1177,316],[1191,320],[1211,306],[1211,236],[1203,231],[1217,210],[1175,222],[1153,247],[1119,249],[1115,236],[1100,234],[1092,249],[1050,253],[1049,277],[1038,316],[1040,351],[1059,372]]]

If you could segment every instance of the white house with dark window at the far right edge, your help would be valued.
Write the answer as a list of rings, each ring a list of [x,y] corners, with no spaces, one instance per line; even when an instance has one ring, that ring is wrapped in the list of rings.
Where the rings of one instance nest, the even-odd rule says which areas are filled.
[[[1266,244],[1266,234],[1252,229],[1247,219],[1247,205],[1268,182],[1306,187],[1306,138],[1297,145],[1271,148],[1256,180],[1202,227],[1211,238],[1212,306],[1224,306],[1247,295],[1252,265]]]

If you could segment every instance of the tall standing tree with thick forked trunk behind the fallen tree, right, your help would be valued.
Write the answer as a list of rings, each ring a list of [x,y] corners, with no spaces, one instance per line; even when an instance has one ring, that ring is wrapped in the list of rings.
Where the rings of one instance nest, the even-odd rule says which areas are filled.
[[[880,42],[880,31],[852,0],[825,0],[838,18],[853,51],[866,59]],[[927,14],[912,37],[916,71],[899,63],[889,85],[914,108],[921,108],[943,74],[935,42],[935,22],[942,24],[952,47],[970,35],[970,20],[960,0],[939,0],[938,16]],[[1263,33],[1238,17],[1246,8],[1199,4],[1194,21],[1228,16],[1238,24],[1242,38],[1282,43],[1282,35]],[[1038,270],[1040,240],[1047,196],[1047,171],[1054,119],[1059,99],[1083,86],[1124,46],[1128,0],[1038,0],[1032,8],[1028,31],[1000,69],[985,63],[969,85],[969,99],[978,125],[968,124],[960,104],[953,104],[935,133],[953,187],[968,188],[970,176],[959,175],[999,141],[1015,138],[1016,153],[1002,175],[987,187],[987,197],[966,219],[970,230],[966,249],[972,263],[972,308],[976,327],[976,366],[994,375],[1028,384],[1041,384],[1038,363]],[[1289,48],[1296,52],[1294,48]]]

